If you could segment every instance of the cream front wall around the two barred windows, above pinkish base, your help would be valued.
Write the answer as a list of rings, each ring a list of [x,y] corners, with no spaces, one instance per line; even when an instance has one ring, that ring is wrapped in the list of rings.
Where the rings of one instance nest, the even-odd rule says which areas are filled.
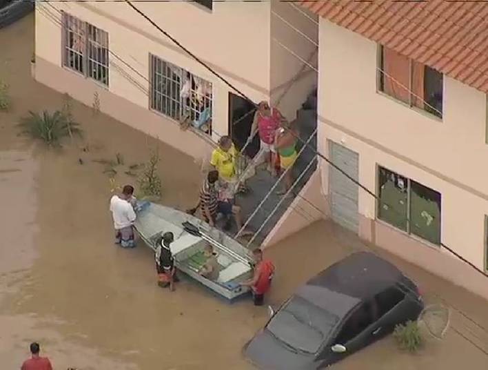
[[[227,134],[230,88],[192,57],[186,55],[148,21],[131,10],[127,4],[52,3],[52,5],[108,32],[110,51],[123,60],[110,55],[108,90],[111,93],[148,108],[149,53],[152,53],[212,82],[213,125],[216,133],[214,139],[219,134]],[[192,3],[136,3],[136,6],[150,14],[150,17],[170,35],[184,46],[186,45],[195,55],[208,61],[216,72],[223,75],[250,99],[254,101],[267,99],[270,95],[268,72],[270,40],[262,35],[269,35],[269,3],[235,3],[232,8],[229,3],[214,5],[214,13],[210,14]],[[36,14],[36,55],[61,66],[61,29],[56,21],[45,16],[45,11],[49,11],[52,17],[56,17],[58,23],[60,14],[45,4],[37,6],[41,6],[44,10]],[[235,8],[240,6],[245,8],[236,11]],[[162,7],[165,7],[165,11],[160,10]],[[155,9],[159,11],[154,11]],[[182,27],[182,19],[187,23],[187,27]],[[250,24],[253,26],[250,27]],[[223,47],[225,45],[227,47]],[[264,51],[256,55],[256,49]],[[257,57],[250,57],[250,55]],[[136,72],[125,64],[130,64]],[[132,125],[137,127],[138,124],[132,123]]]

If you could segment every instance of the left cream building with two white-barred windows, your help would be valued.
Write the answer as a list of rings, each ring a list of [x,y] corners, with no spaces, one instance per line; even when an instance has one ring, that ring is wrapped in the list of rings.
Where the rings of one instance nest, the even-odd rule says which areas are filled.
[[[316,46],[303,39],[318,37],[314,15],[293,3],[134,6],[193,56],[128,3],[37,3],[37,81],[88,106],[95,101],[103,113],[196,158],[221,135],[245,142],[252,114],[245,127],[234,118],[252,110],[246,99],[272,101],[294,119],[316,84],[303,68],[317,59]]]

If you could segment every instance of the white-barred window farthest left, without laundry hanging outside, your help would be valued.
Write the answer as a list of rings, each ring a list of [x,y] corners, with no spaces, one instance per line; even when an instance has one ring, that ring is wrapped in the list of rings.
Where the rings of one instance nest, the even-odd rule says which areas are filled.
[[[63,66],[108,86],[108,32],[63,12]]]

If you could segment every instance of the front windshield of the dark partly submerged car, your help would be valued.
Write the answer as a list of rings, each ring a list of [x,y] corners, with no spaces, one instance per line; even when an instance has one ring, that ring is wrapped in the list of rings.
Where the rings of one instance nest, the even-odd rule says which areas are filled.
[[[316,353],[337,321],[332,313],[294,296],[274,315],[267,329],[293,349]]]

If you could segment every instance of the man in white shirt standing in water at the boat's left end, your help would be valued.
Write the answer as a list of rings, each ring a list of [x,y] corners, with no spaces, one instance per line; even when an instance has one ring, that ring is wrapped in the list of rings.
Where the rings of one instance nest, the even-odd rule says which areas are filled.
[[[125,185],[122,194],[110,199],[110,211],[114,219],[115,243],[123,248],[134,248],[134,187]]]

